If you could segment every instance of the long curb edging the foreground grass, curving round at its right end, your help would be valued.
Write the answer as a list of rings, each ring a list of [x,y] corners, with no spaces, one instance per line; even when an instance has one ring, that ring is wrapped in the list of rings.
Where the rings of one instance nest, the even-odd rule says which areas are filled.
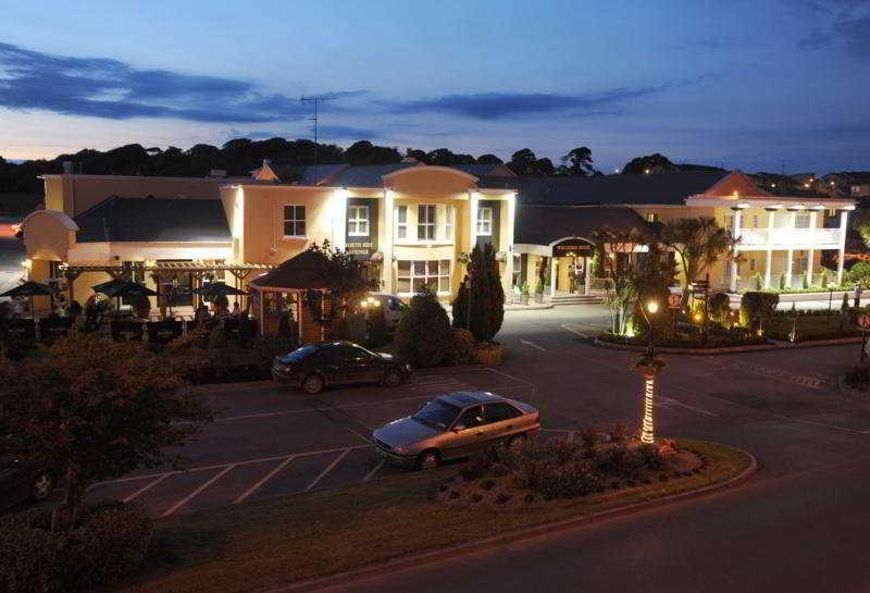
[[[710,484],[707,486],[703,486],[696,490],[691,490],[687,492],[681,492],[679,494],[671,494],[669,496],[663,496],[661,498],[656,498],[655,501],[645,501],[643,503],[634,503],[631,505],[609,509],[609,510],[601,510],[599,512],[593,512],[592,515],[584,515],[583,517],[576,517],[573,519],[566,519],[562,521],[556,521],[552,523],[545,523],[542,526],[536,526],[527,529],[523,529],[520,531],[513,531],[509,533],[505,533],[501,535],[494,535],[492,538],[486,538],[484,540],[476,540],[472,542],[467,542],[463,544],[457,544],[450,547],[446,547],[443,549],[437,549],[434,552],[425,552],[422,554],[417,554],[414,556],[409,556],[406,558],[399,558],[397,560],[387,561],[382,565],[372,566],[372,567],[362,567],[356,570],[349,570],[347,572],[341,572],[339,575],[332,575],[330,577],[322,577],[310,579],[306,581],[301,581],[298,583],[288,584],[285,586],[278,586],[274,589],[263,590],[261,593],[297,593],[300,591],[320,591],[322,589],[328,586],[335,586],[344,583],[348,583],[352,580],[358,579],[371,579],[373,577],[380,577],[383,575],[389,575],[391,572],[398,572],[401,570],[407,570],[410,568],[417,568],[419,566],[424,566],[427,564],[436,563],[439,560],[446,560],[448,558],[453,558],[456,556],[462,556],[463,554],[471,554],[473,552],[480,552],[482,549],[488,549],[490,547],[495,547],[498,545],[510,544],[513,542],[520,542],[523,540],[531,540],[533,538],[537,538],[538,535],[547,535],[551,533],[556,533],[559,531],[568,531],[570,529],[574,529],[586,523],[594,522],[599,519],[609,519],[613,517],[619,517],[622,515],[630,515],[632,512],[638,510],[645,510],[647,508],[651,508],[655,506],[660,506],[662,503],[673,503],[679,501],[684,501],[688,498],[694,498],[698,496],[703,496],[705,494],[724,490],[726,487],[733,486],[739,482],[743,482],[750,478],[757,470],[758,470],[758,460],[751,453],[746,450],[731,447],[732,449],[738,450],[749,457],[749,467],[743,470],[737,475],[725,480],[724,482],[720,482],[718,484]]]

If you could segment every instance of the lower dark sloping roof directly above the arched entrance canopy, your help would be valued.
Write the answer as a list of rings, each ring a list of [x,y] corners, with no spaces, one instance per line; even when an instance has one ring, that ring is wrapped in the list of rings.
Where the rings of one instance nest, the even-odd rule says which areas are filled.
[[[524,205],[517,209],[514,243],[549,245],[564,237],[584,237],[604,226],[617,231],[636,228],[645,238],[658,233],[656,224],[646,222],[631,208],[602,206]]]

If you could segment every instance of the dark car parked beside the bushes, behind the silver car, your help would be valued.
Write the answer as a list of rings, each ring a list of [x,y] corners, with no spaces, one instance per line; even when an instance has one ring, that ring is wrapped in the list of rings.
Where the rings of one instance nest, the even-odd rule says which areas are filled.
[[[396,387],[411,373],[411,365],[391,354],[373,353],[352,342],[321,342],[276,356],[272,376],[316,394],[327,385],[383,383]]]

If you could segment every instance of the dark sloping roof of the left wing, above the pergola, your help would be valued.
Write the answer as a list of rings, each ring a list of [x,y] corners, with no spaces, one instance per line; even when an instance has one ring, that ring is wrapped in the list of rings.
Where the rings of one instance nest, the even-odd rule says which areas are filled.
[[[78,243],[233,239],[219,199],[110,196],[78,214],[75,222]]]

